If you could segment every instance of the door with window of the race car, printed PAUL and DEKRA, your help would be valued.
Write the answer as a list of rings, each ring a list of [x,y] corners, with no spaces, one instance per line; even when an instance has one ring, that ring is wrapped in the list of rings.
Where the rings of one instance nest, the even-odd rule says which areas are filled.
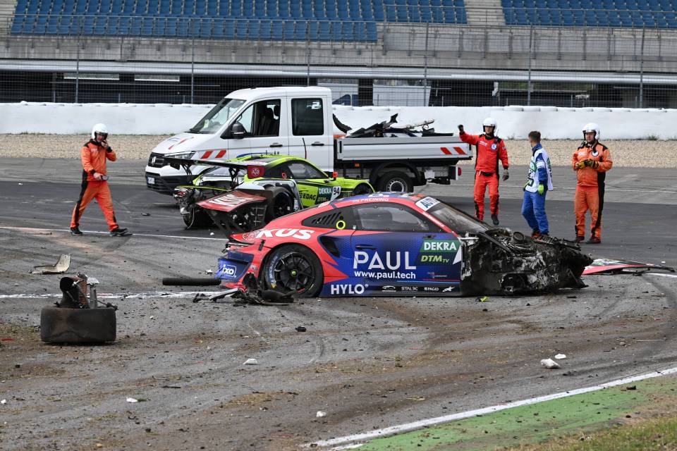
[[[380,194],[379,194],[380,195]],[[353,276],[374,294],[454,295],[461,278],[461,242],[405,204],[353,206]]]

